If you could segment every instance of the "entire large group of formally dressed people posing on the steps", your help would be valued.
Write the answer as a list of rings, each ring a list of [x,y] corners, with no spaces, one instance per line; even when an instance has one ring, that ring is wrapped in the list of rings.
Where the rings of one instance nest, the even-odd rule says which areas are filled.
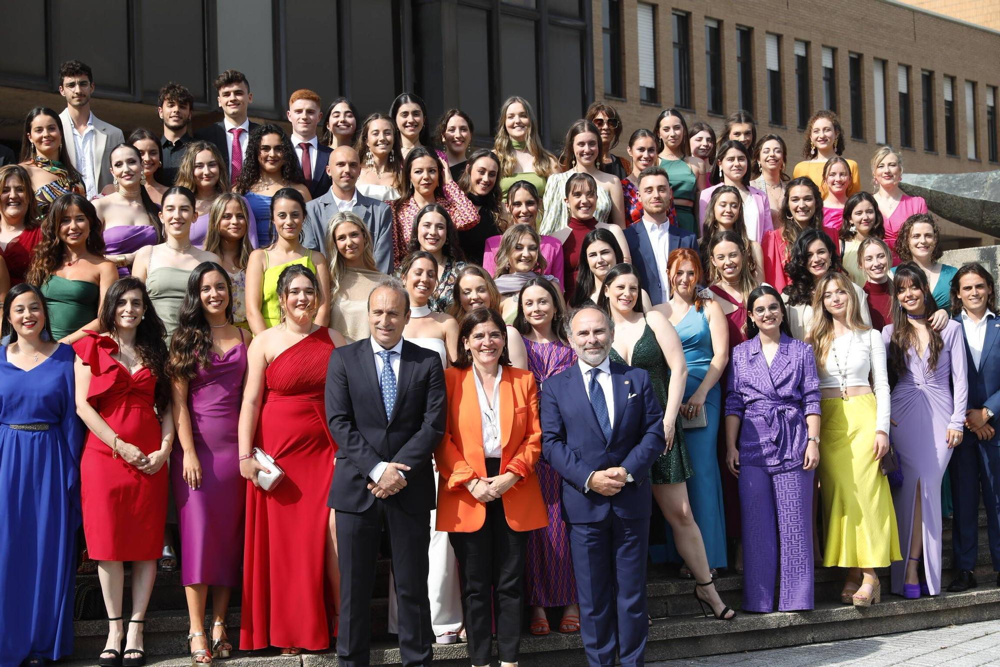
[[[938,595],[943,507],[965,590],[980,497],[1000,570],[993,276],[941,263],[899,152],[863,189],[835,113],[789,177],[745,111],[716,146],[663,110],[626,157],[595,103],[555,155],[511,97],[473,149],[412,93],[257,124],[227,70],[220,122],[190,135],[170,83],[126,140],[87,65],[59,77],[0,167],[0,663],[72,652],[87,567],[106,667],[145,664],[158,570],[194,665],[229,657],[234,587],[241,649],[364,665],[384,552],[403,664],[474,666],[556,619],[643,664],[648,561],[720,621],[720,570],[744,612],[812,609],[817,566],[847,605],[889,566]]]

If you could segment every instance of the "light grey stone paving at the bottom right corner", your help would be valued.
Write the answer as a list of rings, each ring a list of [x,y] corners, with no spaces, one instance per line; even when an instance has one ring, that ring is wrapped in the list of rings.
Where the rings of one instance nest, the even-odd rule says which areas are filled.
[[[767,651],[647,663],[648,667],[813,667],[815,665],[1000,665],[1000,620]]]

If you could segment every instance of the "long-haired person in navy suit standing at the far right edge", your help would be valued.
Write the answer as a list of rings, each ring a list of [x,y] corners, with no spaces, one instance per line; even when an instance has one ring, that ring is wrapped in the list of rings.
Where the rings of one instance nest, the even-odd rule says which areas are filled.
[[[980,489],[993,570],[1000,572],[1000,438],[995,419],[1000,414],[1000,318],[993,276],[981,264],[965,264],[951,281],[951,304],[962,324],[969,369],[965,439],[948,466],[955,509],[952,544],[959,571],[948,590],[959,592],[976,586],[972,570],[979,549]]]

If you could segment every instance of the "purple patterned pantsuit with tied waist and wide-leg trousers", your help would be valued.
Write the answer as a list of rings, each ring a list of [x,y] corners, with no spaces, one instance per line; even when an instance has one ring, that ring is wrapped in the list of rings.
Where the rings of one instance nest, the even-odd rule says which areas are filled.
[[[726,415],[740,418],[740,507],[743,520],[743,609],[813,608],[813,471],[802,469],[806,415],[820,414],[812,347],[785,335],[768,366],[760,338],[733,349]],[[778,559],[778,542],[781,559]]]

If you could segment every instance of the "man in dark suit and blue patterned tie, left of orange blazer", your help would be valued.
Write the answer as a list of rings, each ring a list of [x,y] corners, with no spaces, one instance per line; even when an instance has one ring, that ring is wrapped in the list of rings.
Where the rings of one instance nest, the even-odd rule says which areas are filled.
[[[371,598],[382,528],[389,531],[403,665],[429,665],[427,596],[431,454],[444,437],[441,359],[403,340],[410,298],[386,278],[368,296],[371,337],[338,348],[326,377],[326,419],[337,443],[328,505],[336,512],[341,665],[367,665]]]

